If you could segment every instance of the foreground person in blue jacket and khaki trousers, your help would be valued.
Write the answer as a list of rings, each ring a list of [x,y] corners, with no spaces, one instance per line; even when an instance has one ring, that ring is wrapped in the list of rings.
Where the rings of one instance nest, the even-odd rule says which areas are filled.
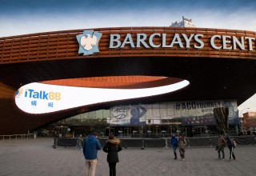
[[[98,134],[92,133],[84,142],[82,151],[86,158],[86,176],[94,176],[98,160],[98,150],[102,149],[100,142],[98,141]]]

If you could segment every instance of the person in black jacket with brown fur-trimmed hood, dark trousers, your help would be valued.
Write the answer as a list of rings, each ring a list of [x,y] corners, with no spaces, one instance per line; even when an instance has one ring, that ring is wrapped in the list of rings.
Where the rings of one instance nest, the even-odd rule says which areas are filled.
[[[116,175],[116,165],[119,162],[118,152],[121,150],[120,140],[115,138],[113,134],[110,134],[106,145],[103,147],[103,151],[107,153],[106,161],[109,163],[110,176]]]

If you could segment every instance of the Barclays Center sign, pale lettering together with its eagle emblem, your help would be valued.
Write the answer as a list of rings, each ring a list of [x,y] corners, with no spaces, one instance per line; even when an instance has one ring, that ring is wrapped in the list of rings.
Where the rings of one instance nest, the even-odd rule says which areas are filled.
[[[102,34],[93,30],[84,30],[83,34],[77,35],[79,54],[89,55],[100,52],[98,43]],[[231,35],[213,35],[204,38],[204,34],[110,34],[108,47],[110,49],[130,48],[173,48],[202,49],[211,46],[214,50],[255,50],[255,39],[251,37],[236,37]]]

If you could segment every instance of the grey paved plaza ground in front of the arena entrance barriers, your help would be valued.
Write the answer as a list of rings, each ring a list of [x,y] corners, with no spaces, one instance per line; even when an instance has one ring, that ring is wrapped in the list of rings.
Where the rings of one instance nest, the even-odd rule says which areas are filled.
[[[85,159],[75,147],[52,147],[53,138],[11,139],[0,141],[1,176],[82,176]],[[128,148],[119,152],[117,176],[207,176],[256,174],[256,146],[238,146],[237,161],[218,160],[214,148],[186,149],[184,161],[174,160],[172,148]],[[108,176],[106,153],[98,152],[97,176]]]

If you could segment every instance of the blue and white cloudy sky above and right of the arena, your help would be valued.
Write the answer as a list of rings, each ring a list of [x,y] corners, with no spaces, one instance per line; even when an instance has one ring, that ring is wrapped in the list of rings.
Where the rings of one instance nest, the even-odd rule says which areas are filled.
[[[198,27],[256,31],[255,0],[0,0],[0,38],[54,30],[170,26],[182,16]],[[256,110],[254,97],[239,109]]]

